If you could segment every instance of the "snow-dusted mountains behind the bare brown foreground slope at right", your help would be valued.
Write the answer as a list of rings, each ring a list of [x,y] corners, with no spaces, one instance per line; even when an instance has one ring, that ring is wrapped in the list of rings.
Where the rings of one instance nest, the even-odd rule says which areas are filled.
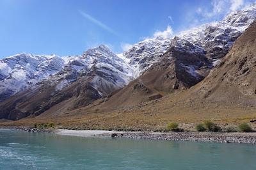
[[[158,36],[136,43],[122,56],[100,45],[80,56],[19,54],[2,59],[0,118],[57,116],[89,107],[113,111],[194,89],[220,67],[255,19],[254,5],[172,39]],[[209,89],[205,85],[207,93]]]

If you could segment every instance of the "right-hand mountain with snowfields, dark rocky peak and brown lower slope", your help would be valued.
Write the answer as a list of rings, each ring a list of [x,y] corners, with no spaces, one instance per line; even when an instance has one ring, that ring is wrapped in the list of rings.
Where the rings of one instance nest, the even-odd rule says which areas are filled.
[[[139,77],[109,98],[104,107],[138,105],[195,86],[221,62],[255,19],[254,5],[230,13],[220,22],[184,31],[172,40],[155,38],[133,45],[124,56],[132,59],[132,66],[141,68],[136,74]],[[156,49],[163,54],[154,55],[151,51]]]

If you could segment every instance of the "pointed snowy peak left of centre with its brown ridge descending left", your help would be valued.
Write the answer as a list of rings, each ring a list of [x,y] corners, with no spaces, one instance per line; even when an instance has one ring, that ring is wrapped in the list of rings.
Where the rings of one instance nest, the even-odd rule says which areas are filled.
[[[0,118],[19,120],[38,115],[67,100],[66,109],[88,105],[128,84],[131,75],[132,70],[124,60],[100,45],[81,56],[68,58],[59,72],[1,102]]]

